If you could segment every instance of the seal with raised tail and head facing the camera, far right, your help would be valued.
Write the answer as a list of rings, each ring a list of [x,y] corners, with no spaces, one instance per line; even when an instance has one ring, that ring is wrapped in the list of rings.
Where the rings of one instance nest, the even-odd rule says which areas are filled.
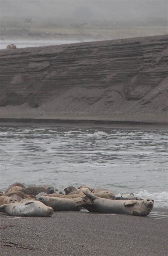
[[[123,213],[135,216],[147,216],[152,208],[154,201],[146,198],[142,201],[137,200],[109,200],[95,196],[91,192],[84,192],[89,197],[95,210],[99,213]]]

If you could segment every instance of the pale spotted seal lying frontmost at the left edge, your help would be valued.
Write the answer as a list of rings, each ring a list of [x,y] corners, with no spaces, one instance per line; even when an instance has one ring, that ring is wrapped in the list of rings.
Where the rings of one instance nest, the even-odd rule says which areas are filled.
[[[38,201],[28,201],[26,203],[1,205],[0,212],[7,213],[11,216],[51,217],[53,209]]]

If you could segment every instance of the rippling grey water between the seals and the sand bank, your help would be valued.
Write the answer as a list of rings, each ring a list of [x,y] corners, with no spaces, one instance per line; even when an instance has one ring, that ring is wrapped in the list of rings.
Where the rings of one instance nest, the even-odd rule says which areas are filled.
[[[63,190],[88,184],[168,202],[168,132],[54,126],[0,128],[0,190],[19,181]]]

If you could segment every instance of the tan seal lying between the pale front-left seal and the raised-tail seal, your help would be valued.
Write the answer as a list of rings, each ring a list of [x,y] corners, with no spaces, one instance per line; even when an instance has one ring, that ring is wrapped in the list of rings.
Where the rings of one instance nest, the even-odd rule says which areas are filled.
[[[35,200],[52,207],[54,211],[80,211],[81,208],[75,204],[82,201],[82,198],[67,199],[54,196],[41,196]]]

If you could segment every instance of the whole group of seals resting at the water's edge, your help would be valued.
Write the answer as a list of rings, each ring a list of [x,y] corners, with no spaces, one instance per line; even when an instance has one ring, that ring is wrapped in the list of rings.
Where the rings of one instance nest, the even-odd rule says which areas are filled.
[[[134,194],[116,197],[111,190],[101,187],[69,186],[64,191],[63,195],[50,185],[26,188],[21,183],[14,183],[5,190],[5,194],[0,194],[0,212],[12,216],[51,217],[53,211],[80,211],[86,208],[89,212],[147,216],[154,204],[152,198],[144,200]]]

